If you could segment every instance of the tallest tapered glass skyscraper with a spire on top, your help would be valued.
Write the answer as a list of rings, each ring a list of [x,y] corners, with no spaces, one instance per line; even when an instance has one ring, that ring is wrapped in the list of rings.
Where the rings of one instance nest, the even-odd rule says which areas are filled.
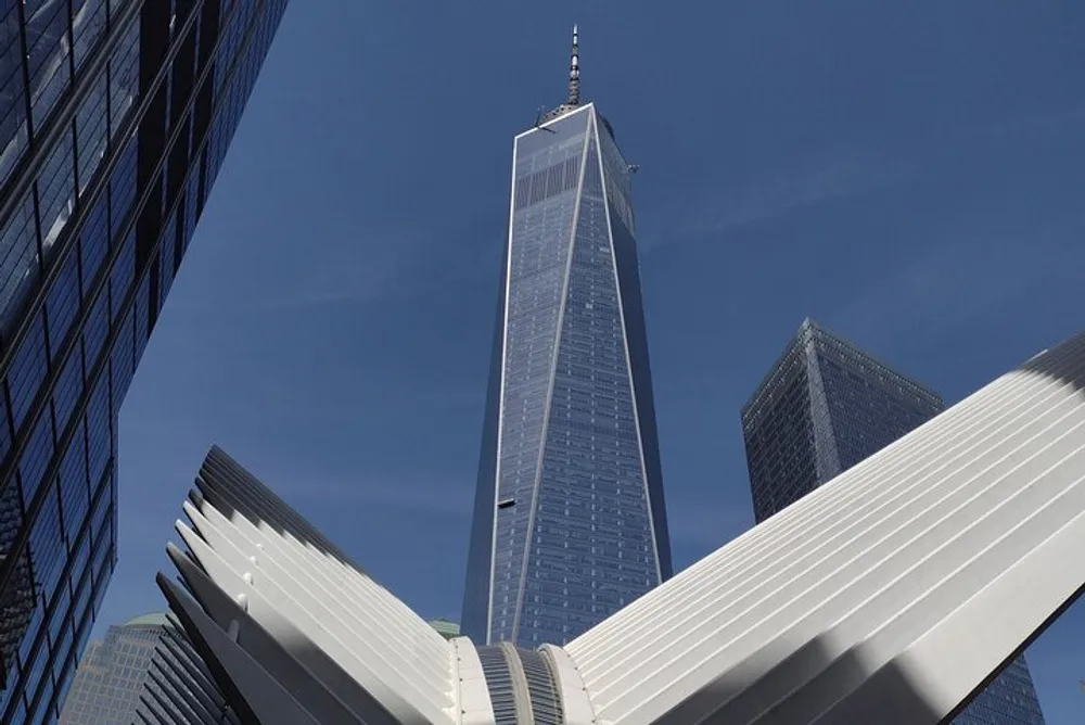
[[[630,196],[569,99],[515,138],[464,634],[564,643],[671,575]]]

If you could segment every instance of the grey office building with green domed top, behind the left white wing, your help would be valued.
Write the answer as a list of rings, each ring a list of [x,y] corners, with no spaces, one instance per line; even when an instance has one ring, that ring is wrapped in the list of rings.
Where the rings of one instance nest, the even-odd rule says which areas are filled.
[[[90,643],[58,725],[235,723],[214,682],[182,629],[145,614]]]

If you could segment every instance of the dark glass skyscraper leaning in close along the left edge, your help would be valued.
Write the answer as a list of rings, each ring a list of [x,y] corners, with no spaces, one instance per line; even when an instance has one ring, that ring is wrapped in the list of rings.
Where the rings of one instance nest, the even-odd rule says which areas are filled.
[[[0,722],[71,683],[116,558],[117,410],[284,5],[0,3]]]

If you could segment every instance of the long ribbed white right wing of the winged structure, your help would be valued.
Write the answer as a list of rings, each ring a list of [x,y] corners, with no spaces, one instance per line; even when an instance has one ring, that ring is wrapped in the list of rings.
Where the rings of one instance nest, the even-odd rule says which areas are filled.
[[[1085,582],[1073,571],[1031,597],[1020,636],[982,648],[990,657],[937,646],[965,629],[994,636],[998,582],[1027,581],[1059,536],[1080,535],[1083,373],[1077,338],[570,643],[599,717],[813,722],[876,670],[933,666],[921,652],[969,673],[934,698],[955,705]],[[973,600],[984,608],[963,616]]]

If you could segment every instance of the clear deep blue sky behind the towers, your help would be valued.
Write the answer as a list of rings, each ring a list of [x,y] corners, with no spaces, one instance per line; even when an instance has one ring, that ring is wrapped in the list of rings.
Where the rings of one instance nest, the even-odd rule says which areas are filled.
[[[218,443],[457,616],[512,137],[582,79],[635,203],[676,568],[752,523],[739,407],[812,316],[955,402],[1085,327],[1085,3],[361,3],[285,15],[122,412],[101,619],[162,607]],[[1031,650],[1081,722],[1085,609]]]

